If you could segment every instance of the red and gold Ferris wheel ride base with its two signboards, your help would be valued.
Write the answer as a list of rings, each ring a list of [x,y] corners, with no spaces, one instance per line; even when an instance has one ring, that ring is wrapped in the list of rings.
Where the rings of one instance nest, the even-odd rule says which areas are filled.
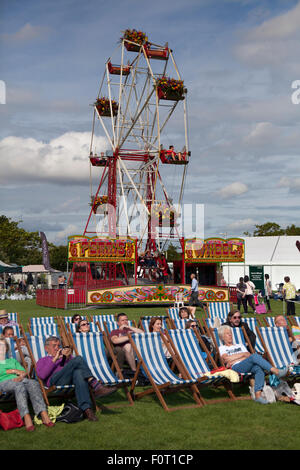
[[[199,280],[199,300],[234,302],[235,289],[218,285],[218,267],[223,261],[244,261],[243,240],[192,239],[184,240],[182,246],[182,261],[174,263],[172,280],[165,284],[153,281],[143,284],[137,277],[136,239],[70,237],[68,263],[72,264],[72,270],[66,288],[60,292],[65,295],[65,307],[59,308],[78,304],[172,305],[177,294],[187,303],[192,272]]]

